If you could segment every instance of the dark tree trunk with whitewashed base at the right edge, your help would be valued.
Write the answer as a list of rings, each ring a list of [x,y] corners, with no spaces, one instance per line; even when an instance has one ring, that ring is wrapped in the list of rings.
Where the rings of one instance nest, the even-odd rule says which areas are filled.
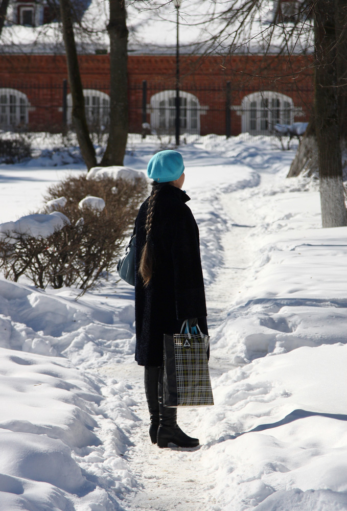
[[[315,6],[315,119],[318,145],[320,204],[323,227],[347,225],[339,134],[335,2]]]

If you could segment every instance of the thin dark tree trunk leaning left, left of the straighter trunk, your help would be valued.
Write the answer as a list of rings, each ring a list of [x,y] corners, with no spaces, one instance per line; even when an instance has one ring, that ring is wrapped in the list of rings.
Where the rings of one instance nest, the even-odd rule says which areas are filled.
[[[60,0],[60,16],[63,26],[68,82],[72,96],[72,120],[76,129],[82,157],[89,170],[91,167],[95,167],[97,162],[85,117],[83,87],[77,59],[70,0]]]

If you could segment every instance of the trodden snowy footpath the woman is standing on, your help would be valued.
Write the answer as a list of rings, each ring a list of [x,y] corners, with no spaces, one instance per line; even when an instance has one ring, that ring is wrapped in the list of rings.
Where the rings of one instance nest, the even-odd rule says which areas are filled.
[[[226,313],[238,295],[251,264],[252,251],[249,228],[244,225],[247,212],[237,192],[220,196],[220,205],[228,230],[222,236],[224,261],[217,270],[216,280],[206,287],[210,334],[225,320]],[[227,373],[235,365],[213,353],[210,359],[211,378]],[[125,452],[129,469],[138,486],[122,501],[126,511],[153,509],[158,511],[206,511],[216,502],[209,490],[215,485],[215,475],[201,462],[201,446],[196,449],[158,449],[149,440],[149,416],[143,384],[143,367],[135,362],[100,367],[101,377],[117,375],[129,387],[129,398],[136,403],[134,411],[140,422],[132,431],[132,446]],[[179,409],[178,422],[192,436],[199,421],[195,409]],[[203,443],[203,439],[201,439]],[[146,461],[145,461],[146,460]]]

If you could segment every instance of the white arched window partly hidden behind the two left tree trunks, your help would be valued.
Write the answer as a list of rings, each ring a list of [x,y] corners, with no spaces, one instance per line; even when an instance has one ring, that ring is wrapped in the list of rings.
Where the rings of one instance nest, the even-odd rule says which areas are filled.
[[[95,89],[83,89],[85,115],[91,127],[107,127],[110,117],[110,97]],[[72,96],[67,95],[67,123],[72,124]]]

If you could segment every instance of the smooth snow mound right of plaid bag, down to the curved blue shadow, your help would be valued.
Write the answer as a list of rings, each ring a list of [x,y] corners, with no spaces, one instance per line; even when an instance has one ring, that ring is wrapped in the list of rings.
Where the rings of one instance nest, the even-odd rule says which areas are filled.
[[[202,418],[207,440],[272,431],[310,416],[335,415],[345,430],[347,396],[341,390],[346,362],[346,345],[304,346],[224,373],[214,384],[215,408]]]

